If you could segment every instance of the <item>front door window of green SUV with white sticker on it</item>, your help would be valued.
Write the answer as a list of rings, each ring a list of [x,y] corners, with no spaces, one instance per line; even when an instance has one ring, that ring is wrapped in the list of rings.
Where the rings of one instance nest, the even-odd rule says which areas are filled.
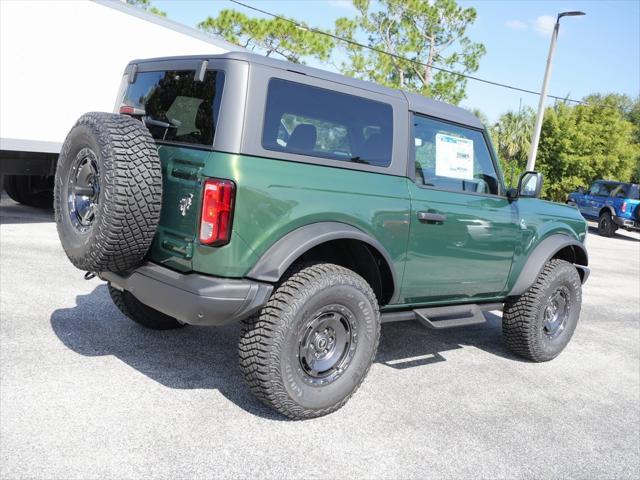
[[[413,115],[416,182],[446,190],[500,193],[482,132]]]

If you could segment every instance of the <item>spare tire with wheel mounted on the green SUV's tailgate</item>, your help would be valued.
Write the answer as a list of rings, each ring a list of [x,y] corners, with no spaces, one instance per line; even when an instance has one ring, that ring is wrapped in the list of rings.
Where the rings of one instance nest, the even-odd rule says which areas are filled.
[[[162,169],[139,121],[86,113],[58,158],[54,188],[58,236],[69,260],[91,272],[124,272],[147,253],[160,220]]]

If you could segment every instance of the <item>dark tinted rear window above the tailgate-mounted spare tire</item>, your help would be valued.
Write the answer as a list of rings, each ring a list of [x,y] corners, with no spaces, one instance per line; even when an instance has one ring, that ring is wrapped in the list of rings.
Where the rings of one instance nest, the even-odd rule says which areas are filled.
[[[142,72],[129,85],[123,104],[141,109],[158,141],[211,146],[216,131],[224,73],[208,70]]]

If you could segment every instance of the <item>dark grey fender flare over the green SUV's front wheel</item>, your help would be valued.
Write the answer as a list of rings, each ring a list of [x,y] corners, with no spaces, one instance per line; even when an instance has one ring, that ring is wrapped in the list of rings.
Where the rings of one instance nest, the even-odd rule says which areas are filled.
[[[573,247],[577,252],[580,252],[581,257],[579,261],[577,259],[574,265],[581,271],[582,283],[584,283],[589,276],[589,268],[587,267],[587,265],[589,265],[589,255],[587,254],[584,244],[568,235],[554,234],[542,240],[534,248],[533,252],[531,252],[508,296],[522,295],[534,284],[544,268],[545,263],[566,247]],[[576,257],[578,257],[578,255],[576,255]]]

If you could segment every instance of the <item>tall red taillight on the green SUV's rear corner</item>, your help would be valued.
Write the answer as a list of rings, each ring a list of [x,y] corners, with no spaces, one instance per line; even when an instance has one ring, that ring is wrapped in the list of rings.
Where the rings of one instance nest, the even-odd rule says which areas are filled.
[[[224,245],[231,235],[235,185],[230,180],[207,180],[202,193],[200,243]]]

